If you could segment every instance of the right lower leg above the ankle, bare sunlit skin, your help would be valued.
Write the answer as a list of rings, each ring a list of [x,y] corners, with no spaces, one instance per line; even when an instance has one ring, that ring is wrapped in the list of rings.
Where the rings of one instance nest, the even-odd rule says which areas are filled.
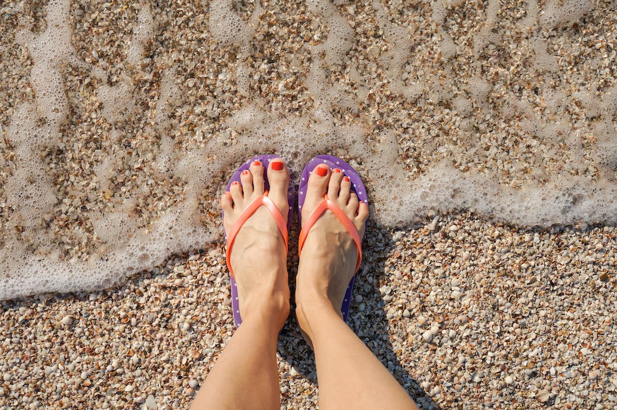
[[[315,349],[321,409],[418,409],[327,297],[296,312]]]

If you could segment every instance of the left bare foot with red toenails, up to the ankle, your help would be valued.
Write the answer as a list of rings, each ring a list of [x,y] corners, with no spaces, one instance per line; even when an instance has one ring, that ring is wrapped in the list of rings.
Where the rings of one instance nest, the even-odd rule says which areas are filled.
[[[277,158],[270,161],[267,173],[270,182],[268,198],[287,222],[289,170]],[[253,162],[250,170],[242,172],[240,181],[233,183],[221,199],[226,233],[230,232],[242,211],[263,195],[263,164]],[[231,251],[231,269],[238,287],[242,319],[259,312],[283,327],[289,315],[287,254],[283,236],[267,207],[259,207],[239,230]]]

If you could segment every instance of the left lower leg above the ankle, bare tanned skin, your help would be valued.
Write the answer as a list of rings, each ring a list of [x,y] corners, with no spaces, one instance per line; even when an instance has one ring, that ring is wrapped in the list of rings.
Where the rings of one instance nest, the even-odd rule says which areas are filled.
[[[289,314],[285,302],[246,309],[242,325],[210,370],[191,410],[280,409],[276,340],[280,318]]]

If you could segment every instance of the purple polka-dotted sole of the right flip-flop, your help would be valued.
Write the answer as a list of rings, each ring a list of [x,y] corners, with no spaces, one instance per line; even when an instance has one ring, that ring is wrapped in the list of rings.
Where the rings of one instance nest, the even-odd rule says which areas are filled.
[[[349,177],[349,179],[351,180],[351,190],[355,192],[355,195],[358,196],[358,199],[360,201],[368,205],[366,188],[364,186],[364,183],[362,182],[362,178],[360,178],[360,175],[358,175],[356,170],[340,158],[331,155],[318,155],[308,162],[308,164],[304,167],[304,170],[302,171],[302,176],[300,177],[300,186],[298,188],[298,219],[300,220],[300,228],[302,228],[302,205],[304,205],[304,200],[306,199],[306,187],[309,183],[309,175],[313,172],[313,169],[315,169],[315,167],[317,167],[317,165],[319,164],[326,164],[330,167],[330,169],[340,169],[341,172],[347,177]],[[354,279],[355,275],[351,278],[351,282],[349,282],[349,286],[347,287],[347,291],[345,293],[345,298],[343,299],[343,306],[341,307],[341,313],[343,314],[343,320],[345,322],[347,322],[349,305],[352,300]]]

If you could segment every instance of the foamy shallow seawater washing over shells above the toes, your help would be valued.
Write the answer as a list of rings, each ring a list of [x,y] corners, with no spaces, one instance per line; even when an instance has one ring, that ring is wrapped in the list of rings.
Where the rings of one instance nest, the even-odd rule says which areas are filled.
[[[381,224],[615,224],[611,1],[0,6],[0,298],[220,239],[256,153],[357,167]]]

